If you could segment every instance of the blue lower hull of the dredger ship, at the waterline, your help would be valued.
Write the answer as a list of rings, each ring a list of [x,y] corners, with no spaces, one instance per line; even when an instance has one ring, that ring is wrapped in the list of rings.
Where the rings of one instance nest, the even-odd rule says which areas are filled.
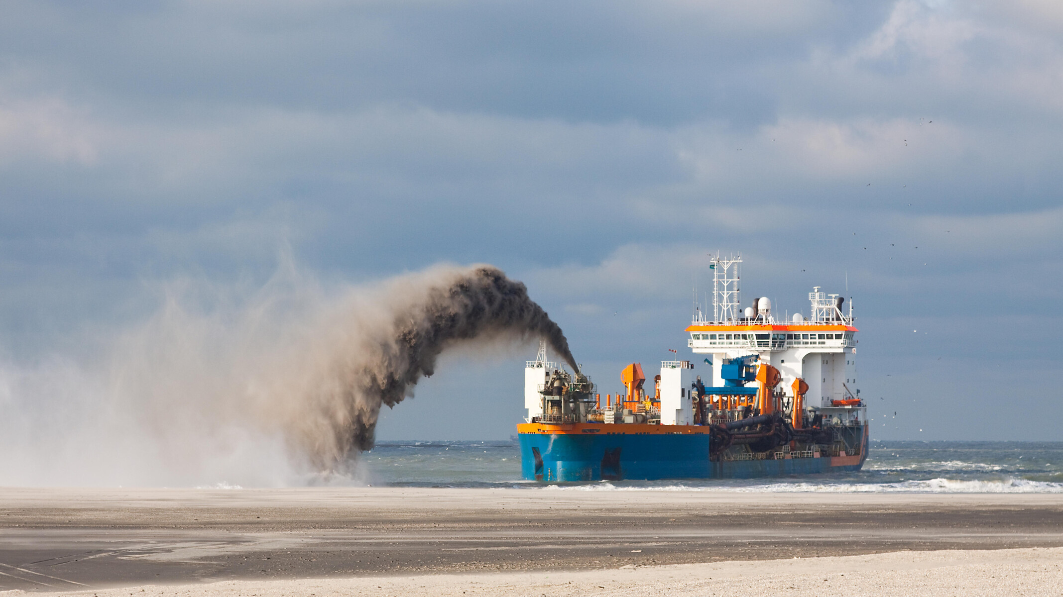
[[[764,460],[709,459],[708,433],[519,433],[525,479],[748,479],[859,471],[867,455]]]

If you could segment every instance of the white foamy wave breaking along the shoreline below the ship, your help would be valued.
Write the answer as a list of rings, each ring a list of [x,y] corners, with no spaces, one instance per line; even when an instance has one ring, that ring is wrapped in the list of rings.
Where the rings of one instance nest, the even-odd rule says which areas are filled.
[[[1063,483],[1007,478],[999,480],[924,479],[892,483],[779,482],[747,485],[615,485],[603,481],[583,485],[547,485],[554,491],[695,491],[721,493],[1063,493]]]

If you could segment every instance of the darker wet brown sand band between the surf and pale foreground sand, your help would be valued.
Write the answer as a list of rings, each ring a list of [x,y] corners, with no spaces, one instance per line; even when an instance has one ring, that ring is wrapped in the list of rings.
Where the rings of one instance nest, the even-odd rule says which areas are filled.
[[[642,566],[645,578],[658,578],[651,570],[673,569],[660,565],[738,561],[727,565],[763,567],[750,561],[1061,546],[1063,498],[1048,494],[0,490],[0,590],[242,586],[267,579],[356,586],[358,578],[398,577],[388,582],[401,584],[420,575],[469,573],[509,573],[526,581],[623,566]],[[1040,551],[1047,561],[1060,558],[1057,550]],[[997,556],[979,569],[991,569],[988,563],[1009,552],[990,553]],[[918,563],[929,556],[905,557]],[[890,560],[881,561],[889,566]],[[955,565],[962,567],[947,564]],[[535,576],[521,576],[527,573]],[[416,594],[412,589],[395,592]],[[707,594],[703,589],[699,594]]]

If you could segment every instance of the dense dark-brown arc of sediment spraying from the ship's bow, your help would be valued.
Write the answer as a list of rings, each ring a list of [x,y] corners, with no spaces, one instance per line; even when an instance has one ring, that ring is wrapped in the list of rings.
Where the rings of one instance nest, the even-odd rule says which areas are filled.
[[[381,407],[411,396],[456,343],[538,337],[577,369],[561,328],[522,283],[491,266],[407,276],[374,302],[371,321],[356,320],[353,344],[334,355],[324,378],[300,400],[310,412],[298,413],[292,439],[316,466],[327,470],[371,448]]]

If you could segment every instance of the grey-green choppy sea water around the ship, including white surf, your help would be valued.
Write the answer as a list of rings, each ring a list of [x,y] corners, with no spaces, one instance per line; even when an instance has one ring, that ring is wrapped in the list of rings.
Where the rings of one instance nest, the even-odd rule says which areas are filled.
[[[374,485],[639,491],[1063,493],[1063,442],[872,441],[857,473],[766,479],[545,484],[521,478],[516,441],[379,442],[361,457]]]

